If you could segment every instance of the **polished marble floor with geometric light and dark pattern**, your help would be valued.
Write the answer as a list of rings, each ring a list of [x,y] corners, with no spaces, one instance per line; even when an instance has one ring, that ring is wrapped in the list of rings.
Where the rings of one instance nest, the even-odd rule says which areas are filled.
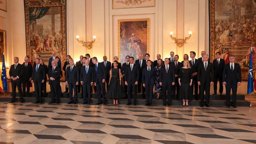
[[[115,143],[256,144],[256,120],[239,107],[0,102],[0,144]]]

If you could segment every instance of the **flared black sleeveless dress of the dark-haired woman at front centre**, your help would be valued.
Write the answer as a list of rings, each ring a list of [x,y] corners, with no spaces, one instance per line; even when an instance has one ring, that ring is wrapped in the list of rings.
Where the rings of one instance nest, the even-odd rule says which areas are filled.
[[[106,92],[106,98],[109,99],[120,99],[125,98],[125,92],[122,85],[120,85],[120,76],[119,76],[120,68],[111,68],[112,77],[108,86],[108,90]]]

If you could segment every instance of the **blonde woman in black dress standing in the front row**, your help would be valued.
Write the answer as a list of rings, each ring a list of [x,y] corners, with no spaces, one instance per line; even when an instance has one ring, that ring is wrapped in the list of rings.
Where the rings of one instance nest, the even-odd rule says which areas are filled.
[[[189,65],[188,60],[183,61],[183,67],[180,68],[180,73],[179,73],[179,84],[180,84],[180,97],[183,100],[183,105],[185,106],[185,101],[186,101],[186,106],[188,107],[188,100],[191,100],[192,98],[192,80],[193,80],[193,75],[192,75],[192,70]]]

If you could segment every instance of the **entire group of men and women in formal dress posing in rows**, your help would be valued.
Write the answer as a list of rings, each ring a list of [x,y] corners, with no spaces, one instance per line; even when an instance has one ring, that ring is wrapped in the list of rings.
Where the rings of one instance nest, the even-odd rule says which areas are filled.
[[[163,105],[171,106],[172,100],[181,99],[182,106],[189,106],[189,100],[200,98],[200,107],[209,107],[210,86],[214,85],[214,95],[217,94],[217,82],[219,81],[219,93],[223,93],[223,85],[226,87],[226,104],[230,107],[230,91],[232,89],[232,106],[236,107],[237,86],[241,84],[241,69],[234,63],[235,56],[229,56],[229,63],[225,64],[221,54],[215,54],[216,59],[210,63],[209,55],[201,52],[202,57],[195,59],[196,53],[191,51],[184,54],[183,61],[179,62],[179,56],[170,53],[169,58],[151,61],[149,54],[139,54],[137,60],[127,55],[126,62],[121,65],[118,57],[114,57],[111,64],[107,57],[98,62],[97,57],[89,54],[80,56],[80,61],[74,63],[70,55],[64,63],[66,91],[69,92],[69,104],[78,103],[78,92],[82,92],[83,104],[91,104],[93,89],[98,97],[98,103],[107,104],[107,98],[113,99],[113,104],[118,105],[121,98],[128,99],[127,105],[137,105],[137,93],[142,92],[142,98],[146,98],[146,105],[152,105],[153,90],[157,99],[162,95]],[[145,59],[143,59],[143,56]],[[189,60],[189,57],[191,60]],[[49,79],[52,100],[50,103],[59,103],[61,92],[60,78],[62,77],[61,59],[52,52],[48,66],[44,64],[40,55],[37,55],[34,63],[29,57],[24,58],[24,63],[19,64],[19,58],[14,57],[14,63],[9,70],[12,85],[12,100],[15,102],[16,87],[20,95],[20,102],[24,102],[24,96],[30,92],[31,83],[35,87],[35,103],[43,103],[46,96],[46,80]],[[22,86],[21,86],[22,85]],[[199,86],[199,94],[198,94]],[[27,88],[27,89],[26,89]],[[205,96],[204,96],[205,93]],[[133,102],[132,102],[133,96]]]

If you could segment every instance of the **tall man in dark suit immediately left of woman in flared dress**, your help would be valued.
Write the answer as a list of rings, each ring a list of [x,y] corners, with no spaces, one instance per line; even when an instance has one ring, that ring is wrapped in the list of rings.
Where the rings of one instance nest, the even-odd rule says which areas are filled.
[[[97,95],[98,95],[98,103],[97,105],[100,105],[102,103],[101,100],[101,93],[102,93],[102,99],[104,105],[107,104],[105,94],[105,80],[106,80],[106,69],[105,66],[102,65],[102,63],[98,62],[97,57],[93,57],[93,64],[95,65],[93,68],[93,74],[94,74],[94,85],[97,87]]]

